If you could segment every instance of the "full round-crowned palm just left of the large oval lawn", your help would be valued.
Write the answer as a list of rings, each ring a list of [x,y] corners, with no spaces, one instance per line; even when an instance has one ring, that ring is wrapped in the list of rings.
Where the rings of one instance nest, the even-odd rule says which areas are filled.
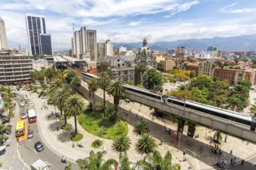
[[[64,105],[64,112],[67,115],[74,116],[74,134],[76,135],[78,134],[77,116],[83,113],[84,100],[78,93],[75,93],[67,98]]]

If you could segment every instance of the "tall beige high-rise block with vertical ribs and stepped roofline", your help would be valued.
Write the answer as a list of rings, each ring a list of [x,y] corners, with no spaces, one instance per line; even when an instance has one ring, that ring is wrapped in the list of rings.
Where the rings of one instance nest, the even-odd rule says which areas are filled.
[[[74,32],[72,41],[73,56],[81,59],[85,53],[90,53],[91,60],[98,58],[96,30],[81,27]]]

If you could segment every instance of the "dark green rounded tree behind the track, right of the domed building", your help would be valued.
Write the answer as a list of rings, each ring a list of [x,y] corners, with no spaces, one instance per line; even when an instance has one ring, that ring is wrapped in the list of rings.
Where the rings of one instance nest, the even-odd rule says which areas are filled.
[[[157,70],[150,69],[147,71],[147,86],[149,89],[154,89],[155,86],[161,85],[161,76]]]

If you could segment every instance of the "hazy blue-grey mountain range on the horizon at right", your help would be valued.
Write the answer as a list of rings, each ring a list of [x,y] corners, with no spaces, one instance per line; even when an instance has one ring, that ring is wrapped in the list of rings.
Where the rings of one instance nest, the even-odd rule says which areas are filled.
[[[113,43],[115,49],[126,46],[127,49],[139,49],[142,42]],[[173,42],[148,43],[151,50],[176,49],[177,46],[185,46],[186,49],[206,50],[208,46],[216,46],[221,51],[255,51],[256,34],[230,37],[213,37],[209,39],[181,39]]]

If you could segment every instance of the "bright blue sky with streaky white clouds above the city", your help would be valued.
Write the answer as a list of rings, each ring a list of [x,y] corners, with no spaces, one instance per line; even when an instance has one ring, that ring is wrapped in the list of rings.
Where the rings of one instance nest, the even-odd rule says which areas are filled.
[[[97,30],[98,42],[256,34],[255,0],[0,0],[9,41],[28,44],[26,13],[45,16],[53,49],[71,49],[73,26]]]

